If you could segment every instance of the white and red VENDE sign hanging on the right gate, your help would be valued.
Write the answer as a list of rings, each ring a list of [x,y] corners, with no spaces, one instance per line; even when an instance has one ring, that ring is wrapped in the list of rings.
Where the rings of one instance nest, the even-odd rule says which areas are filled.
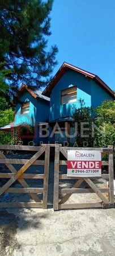
[[[68,150],[68,177],[99,177],[101,176],[101,151]]]

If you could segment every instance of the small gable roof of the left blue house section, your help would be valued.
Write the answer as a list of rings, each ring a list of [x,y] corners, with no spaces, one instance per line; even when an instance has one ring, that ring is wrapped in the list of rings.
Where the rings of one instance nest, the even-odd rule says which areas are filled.
[[[40,98],[40,100],[50,101],[49,97],[42,95],[42,90],[32,91],[27,87],[27,85],[22,84],[22,86],[19,88],[19,92],[23,92],[24,89],[27,90],[34,98]]]

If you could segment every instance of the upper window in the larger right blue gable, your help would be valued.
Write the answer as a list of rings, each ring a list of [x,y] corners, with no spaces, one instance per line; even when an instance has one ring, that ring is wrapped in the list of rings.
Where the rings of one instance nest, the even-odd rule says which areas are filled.
[[[76,101],[76,86],[61,91],[61,105]]]

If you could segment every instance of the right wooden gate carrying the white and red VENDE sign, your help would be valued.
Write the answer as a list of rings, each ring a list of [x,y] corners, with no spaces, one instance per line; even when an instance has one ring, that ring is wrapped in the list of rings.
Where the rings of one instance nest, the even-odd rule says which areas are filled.
[[[102,166],[108,166],[108,174],[102,174],[102,178],[109,180],[109,188],[97,188],[92,180],[99,179],[98,177],[67,177],[67,174],[59,174],[59,166],[67,165],[67,160],[59,160],[59,152],[67,159],[67,150],[99,150],[101,157],[108,154],[108,161],[101,161]],[[77,180],[72,188],[59,189],[59,180]],[[79,188],[83,181],[86,181],[90,188]],[[96,193],[100,197],[100,203],[80,203],[67,204],[66,201],[73,193]],[[103,195],[109,193],[109,200]],[[59,195],[65,196],[59,201]],[[66,204],[65,204],[66,203]],[[108,148],[75,148],[61,147],[58,144],[55,147],[55,163],[54,163],[54,210],[58,209],[75,209],[75,208],[113,208],[114,207],[114,184],[113,184],[113,146]]]

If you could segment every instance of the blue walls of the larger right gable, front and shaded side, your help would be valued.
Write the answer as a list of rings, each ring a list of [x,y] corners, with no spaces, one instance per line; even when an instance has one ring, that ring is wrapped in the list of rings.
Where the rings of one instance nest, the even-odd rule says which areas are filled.
[[[61,105],[61,90],[67,89],[70,86],[77,86],[76,102],[71,104]],[[87,80],[86,76],[75,71],[67,71],[62,78],[57,82],[50,95],[50,115],[49,120],[53,121],[60,117],[73,115],[72,106],[79,108],[79,99],[82,98],[86,103],[85,106],[96,107],[101,105],[104,100],[112,100],[104,89],[102,89],[92,79]]]

